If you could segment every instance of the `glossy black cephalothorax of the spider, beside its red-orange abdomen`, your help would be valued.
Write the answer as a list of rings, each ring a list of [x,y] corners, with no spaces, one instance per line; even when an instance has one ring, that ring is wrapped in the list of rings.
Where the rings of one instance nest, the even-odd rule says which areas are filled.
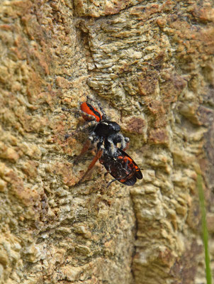
[[[100,122],[94,132],[98,136],[107,137],[111,134],[118,133],[120,131],[120,126],[114,121],[103,121]]]

